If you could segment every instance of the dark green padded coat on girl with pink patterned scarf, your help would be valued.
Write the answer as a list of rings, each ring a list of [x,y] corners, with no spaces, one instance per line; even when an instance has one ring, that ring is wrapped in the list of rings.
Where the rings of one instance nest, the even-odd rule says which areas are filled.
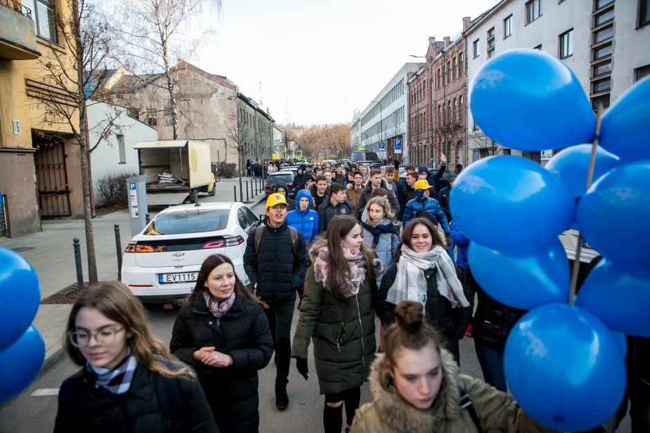
[[[376,348],[371,304],[367,278],[357,295],[340,299],[316,282],[313,267],[307,270],[291,356],[307,358],[313,340],[321,394],[358,387],[368,377]]]

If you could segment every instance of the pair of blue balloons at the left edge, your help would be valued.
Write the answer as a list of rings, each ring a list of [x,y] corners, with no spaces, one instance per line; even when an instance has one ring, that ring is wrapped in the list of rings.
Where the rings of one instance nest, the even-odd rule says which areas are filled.
[[[45,343],[32,320],[41,291],[34,268],[0,247],[0,401],[25,389],[41,371]]]

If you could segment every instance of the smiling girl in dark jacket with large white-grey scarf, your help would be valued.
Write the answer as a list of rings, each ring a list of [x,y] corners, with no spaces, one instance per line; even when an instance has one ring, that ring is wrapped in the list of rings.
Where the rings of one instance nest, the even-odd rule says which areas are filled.
[[[460,361],[458,340],[472,317],[471,296],[465,295],[456,267],[445,251],[434,223],[411,220],[402,232],[401,255],[382,279],[377,295],[377,315],[387,327],[402,300],[423,304],[429,324],[440,330],[445,348]]]

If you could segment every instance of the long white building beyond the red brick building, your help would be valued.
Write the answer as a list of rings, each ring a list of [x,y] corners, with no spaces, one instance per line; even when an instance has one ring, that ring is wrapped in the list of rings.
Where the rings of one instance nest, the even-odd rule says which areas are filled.
[[[384,86],[350,125],[350,142],[353,150],[377,152],[380,158],[399,159],[408,163],[408,95],[409,73],[415,73],[419,63],[407,63]],[[395,144],[401,140],[402,151],[395,153]],[[384,149],[380,149],[380,143]]]

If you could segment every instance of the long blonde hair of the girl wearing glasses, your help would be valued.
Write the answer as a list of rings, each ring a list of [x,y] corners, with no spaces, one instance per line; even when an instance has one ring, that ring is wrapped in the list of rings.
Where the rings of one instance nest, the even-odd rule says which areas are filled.
[[[84,306],[96,308],[97,311],[110,320],[124,325],[127,335],[132,334],[127,340],[127,344],[131,348],[131,354],[138,360],[138,364],[166,378],[196,377],[192,369],[181,364],[175,356],[167,351],[163,342],[151,335],[145,309],[131,291],[120,282],[92,284],[77,297],[77,302],[75,302],[68,316],[65,340],[66,352],[75,364],[86,365],[86,358],[84,358],[79,348],[72,344],[68,338],[68,333],[75,331],[77,313]],[[170,369],[163,362],[165,359],[175,361],[179,367],[180,365],[183,365],[183,367]]]

